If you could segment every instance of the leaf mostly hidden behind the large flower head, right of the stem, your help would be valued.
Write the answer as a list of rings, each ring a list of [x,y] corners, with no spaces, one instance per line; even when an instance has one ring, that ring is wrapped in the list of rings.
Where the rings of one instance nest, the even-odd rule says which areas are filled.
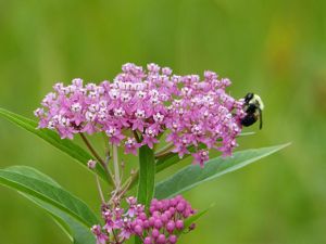
[[[254,132],[242,132],[239,134],[239,138],[241,137],[247,137],[247,136],[252,136]],[[201,149],[201,146],[199,146]],[[195,152],[195,146],[189,146],[188,147],[189,152],[193,153]],[[175,165],[176,163],[189,157],[190,154],[186,154],[183,158],[179,158],[177,153],[168,153],[162,157],[160,157],[156,160],[156,172],[160,172],[164,170],[165,168]]]

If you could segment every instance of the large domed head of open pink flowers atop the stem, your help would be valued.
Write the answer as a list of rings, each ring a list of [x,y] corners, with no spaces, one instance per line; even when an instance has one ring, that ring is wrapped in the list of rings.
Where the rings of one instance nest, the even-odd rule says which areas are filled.
[[[40,128],[54,129],[61,138],[75,133],[104,131],[111,143],[123,144],[126,153],[137,153],[147,144],[153,147],[166,131],[173,152],[190,154],[196,163],[209,159],[210,149],[230,155],[241,131],[242,102],[226,93],[229,79],[205,72],[172,75],[168,67],[149,64],[147,70],[127,63],[113,82],[54,85],[35,111]],[[202,149],[203,150],[200,150]]]

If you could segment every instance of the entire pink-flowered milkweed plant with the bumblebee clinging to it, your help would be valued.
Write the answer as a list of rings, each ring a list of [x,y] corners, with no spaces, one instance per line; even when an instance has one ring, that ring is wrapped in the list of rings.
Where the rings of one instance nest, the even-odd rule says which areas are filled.
[[[43,208],[75,244],[175,244],[208,211],[196,209],[181,193],[287,145],[234,152],[239,137],[252,134],[242,127],[261,117],[263,105],[253,93],[233,98],[226,90],[230,84],[214,72],[200,78],[131,63],[113,81],[58,82],[34,112],[38,121],[3,108],[0,115],[93,172],[98,213],[27,166],[1,169],[0,183]],[[105,150],[93,146],[95,134],[103,137]],[[85,145],[74,142],[76,137]],[[137,168],[127,170],[122,151],[138,158]],[[220,156],[211,157],[213,151]],[[192,164],[156,182],[158,172],[188,157]]]

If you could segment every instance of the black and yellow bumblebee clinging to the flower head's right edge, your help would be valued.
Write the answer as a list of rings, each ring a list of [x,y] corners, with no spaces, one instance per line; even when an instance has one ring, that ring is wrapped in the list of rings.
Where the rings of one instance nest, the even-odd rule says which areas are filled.
[[[260,129],[262,129],[264,110],[262,99],[258,94],[249,92],[243,100],[243,111],[247,113],[247,115],[241,119],[241,125],[248,127],[253,125],[259,119]]]

